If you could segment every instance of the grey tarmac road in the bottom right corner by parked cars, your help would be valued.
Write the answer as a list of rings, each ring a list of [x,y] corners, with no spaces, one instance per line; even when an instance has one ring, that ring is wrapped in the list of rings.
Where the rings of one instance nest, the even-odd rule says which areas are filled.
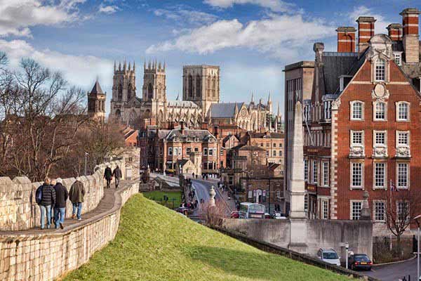
[[[397,281],[403,279],[403,276],[406,276],[406,280],[408,280],[408,275],[410,275],[410,280],[417,280],[417,259],[387,266],[375,266],[370,272],[361,273],[382,281]]]

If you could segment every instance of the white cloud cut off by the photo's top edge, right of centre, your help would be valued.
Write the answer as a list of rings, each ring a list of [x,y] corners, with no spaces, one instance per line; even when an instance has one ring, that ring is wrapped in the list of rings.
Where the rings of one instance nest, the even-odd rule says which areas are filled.
[[[274,12],[288,12],[295,8],[295,4],[287,3],[281,0],[204,0],[204,3],[218,8],[230,8],[235,4],[253,4],[269,8]]]

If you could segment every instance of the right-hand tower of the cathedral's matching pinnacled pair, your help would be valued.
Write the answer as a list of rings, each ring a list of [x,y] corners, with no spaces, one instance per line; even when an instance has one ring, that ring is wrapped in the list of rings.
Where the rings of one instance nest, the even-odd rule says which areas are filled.
[[[142,99],[146,102],[166,101],[166,74],[165,63],[156,63],[156,60],[148,65],[143,65],[143,88]]]

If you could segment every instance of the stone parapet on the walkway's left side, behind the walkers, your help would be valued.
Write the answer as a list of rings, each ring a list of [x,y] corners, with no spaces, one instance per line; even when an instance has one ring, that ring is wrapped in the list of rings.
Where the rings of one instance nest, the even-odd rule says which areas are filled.
[[[95,167],[95,173],[81,176],[86,195],[84,197],[82,214],[92,211],[104,195],[105,180],[103,178],[107,165],[114,169],[121,168],[123,178],[126,176],[124,160],[100,164]],[[63,185],[70,190],[75,178],[63,179]],[[26,176],[13,178],[0,177],[0,231],[27,230],[40,225],[39,206],[35,201],[35,191],[42,183],[31,183]],[[72,202],[67,201],[66,217],[72,216]]]

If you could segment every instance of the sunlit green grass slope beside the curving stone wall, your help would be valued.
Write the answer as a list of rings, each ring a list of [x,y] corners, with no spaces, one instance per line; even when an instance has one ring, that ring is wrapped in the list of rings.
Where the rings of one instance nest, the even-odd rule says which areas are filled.
[[[135,195],[123,207],[115,239],[65,280],[349,278],[260,251]]]

